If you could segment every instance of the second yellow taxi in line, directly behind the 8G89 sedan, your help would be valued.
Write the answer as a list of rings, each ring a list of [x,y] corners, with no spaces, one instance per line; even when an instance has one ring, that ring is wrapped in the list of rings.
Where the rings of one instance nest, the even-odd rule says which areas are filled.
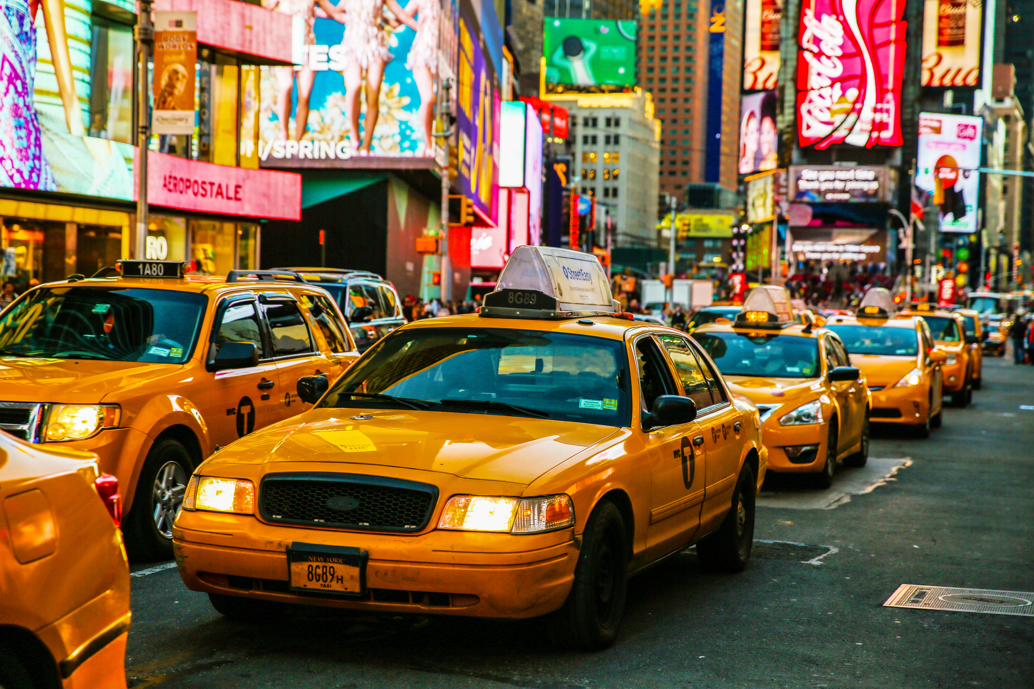
[[[810,473],[828,488],[839,459],[869,459],[870,393],[840,338],[795,323],[788,304],[785,288],[755,287],[735,322],[693,337],[761,412],[769,471]]]

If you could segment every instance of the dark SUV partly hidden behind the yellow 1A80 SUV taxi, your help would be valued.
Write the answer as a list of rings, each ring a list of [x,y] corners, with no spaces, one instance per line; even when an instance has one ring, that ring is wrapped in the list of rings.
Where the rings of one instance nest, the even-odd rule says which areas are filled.
[[[376,273],[340,268],[278,268],[300,273],[306,282],[330,292],[348,319],[348,330],[360,352],[405,324],[395,287]]]

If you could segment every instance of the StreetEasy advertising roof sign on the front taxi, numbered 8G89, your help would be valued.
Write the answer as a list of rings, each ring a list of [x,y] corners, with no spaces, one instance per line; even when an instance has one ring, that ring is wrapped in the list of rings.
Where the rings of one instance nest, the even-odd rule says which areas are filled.
[[[574,318],[618,311],[610,281],[592,254],[554,247],[517,247],[485,295],[482,316]]]

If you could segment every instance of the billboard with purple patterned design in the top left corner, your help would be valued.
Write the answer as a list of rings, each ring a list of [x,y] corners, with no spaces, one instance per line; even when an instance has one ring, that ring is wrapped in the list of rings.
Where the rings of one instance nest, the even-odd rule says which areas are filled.
[[[132,30],[98,28],[101,51],[89,3],[38,8],[0,22],[0,187],[129,200]]]

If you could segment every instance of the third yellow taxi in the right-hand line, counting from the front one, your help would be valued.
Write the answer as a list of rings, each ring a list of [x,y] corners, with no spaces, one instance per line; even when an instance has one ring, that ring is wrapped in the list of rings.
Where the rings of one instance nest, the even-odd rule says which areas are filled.
[[[840,337],[851,364],[865,376],[870,419],[905,425],[926,437],[941,426],[941,364],[947,354],[922,318],[894,318],[894,311],[890,292],[873,287],[855,316],[830,316],[825,327]]]

